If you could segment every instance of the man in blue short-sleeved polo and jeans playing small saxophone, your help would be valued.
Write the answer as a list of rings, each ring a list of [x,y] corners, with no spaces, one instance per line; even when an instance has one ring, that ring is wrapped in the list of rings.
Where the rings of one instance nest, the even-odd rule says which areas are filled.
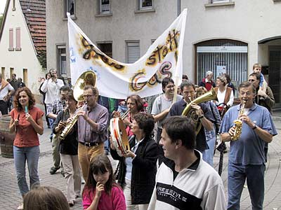
[[[277,132],[269,111],[254,103],[256,95],[254,85],[242,82],[238,92],[241,104],[228,110],[219,131],[222,141],[230,141],[228,209],[240,209],[240,197],[245,179],[247,179],[252,209],[263,209],[266,165],[263,148],[266,143],[272,141]],[[241,120],[241,129],[235,130],[234,121],[239,122],[239,120]]]

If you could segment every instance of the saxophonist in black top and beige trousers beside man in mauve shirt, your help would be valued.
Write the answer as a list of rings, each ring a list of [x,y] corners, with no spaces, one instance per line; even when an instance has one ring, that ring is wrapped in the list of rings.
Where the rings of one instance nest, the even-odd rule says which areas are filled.
[[[67,109],[60,111],[58,117],[53,123],[54,134],[60,134],[66,125],[70,123],[72,117],[76,112],[77,101],[73,97],[73,92],[70,91],[66,94],[65,103]],[[72,127],[69,134],[66,135],[65,139],[60,141],[60,160],[63,162],[65,170],[65,179],[67,183],[66,197],[70,206],[74,205],[74,201],[81,190],[81,172],[78,160],[78,134],[77,125]]]

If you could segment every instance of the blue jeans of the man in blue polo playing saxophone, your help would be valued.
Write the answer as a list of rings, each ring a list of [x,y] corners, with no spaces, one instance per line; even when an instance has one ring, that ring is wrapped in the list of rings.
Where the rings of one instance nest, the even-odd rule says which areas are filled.
[[[240,198],[247,179],[252,209],[263,209],[265,165],[228,163],[228,209],[240,209]]]

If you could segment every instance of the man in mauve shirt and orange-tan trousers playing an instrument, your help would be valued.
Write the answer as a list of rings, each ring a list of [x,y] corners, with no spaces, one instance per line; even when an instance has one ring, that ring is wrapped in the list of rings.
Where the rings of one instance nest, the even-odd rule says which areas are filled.
[[[84,87],[86,105],[77,112],[78,158],[82,175],[87,181],[89,162],[104,153],[103,142],[107,139],[108,111],[98,104],[98,89],[92,85]]]

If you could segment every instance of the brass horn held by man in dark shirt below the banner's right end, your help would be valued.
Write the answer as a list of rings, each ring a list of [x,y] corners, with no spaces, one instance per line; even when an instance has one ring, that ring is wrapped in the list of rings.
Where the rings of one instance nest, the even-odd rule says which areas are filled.
[[[186,116],[192,120],[192,122],[195,124],[196,134],[200,132],[200,129],[202,127],[202,123],[198,119],[198,116],[196,114],[196,111],[192,109],[191,104],[200,104],[203,102],[208,102],[210,100],[218,100],[216,97],[216,92],[213,87],[211,87],[211,90],[209,92],[206,92],[205,94],[202,94],[202,96],[197,97],[197,99],[190,102],[187,106],[185,106],[185,109],[183,109],[183,113],[181,113],[182,116]]]

